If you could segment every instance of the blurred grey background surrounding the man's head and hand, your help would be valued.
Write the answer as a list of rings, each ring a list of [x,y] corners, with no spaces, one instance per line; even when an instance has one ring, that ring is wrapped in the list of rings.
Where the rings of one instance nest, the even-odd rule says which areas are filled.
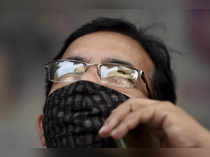
[[[177,105],[210,129],[210,1],[0,1],[0,147],[40,147],[43,65],[68,35],[96,17],[117,17],[161,38],[171,51]]]

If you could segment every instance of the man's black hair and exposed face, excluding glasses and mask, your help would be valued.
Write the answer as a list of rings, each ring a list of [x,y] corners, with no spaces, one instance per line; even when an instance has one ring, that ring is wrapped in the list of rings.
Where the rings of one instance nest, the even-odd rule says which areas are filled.
[[[153,99],[173,103],[176,101],[174,78],[166,46],[129,22],[98,18],[83,25],[68,37],[54,60],[72,56],[91,59],[91,64],[101,64],[107,58],[127,61],[146,73]],[[91,68],[82,78],[100,84],[96,76],[96,68]],[[64,86],[57,86],[47,78],[46,81],[46,96]],[[142,86],[134,89],[114,89],[130,97],[148,97],[145,87]]]

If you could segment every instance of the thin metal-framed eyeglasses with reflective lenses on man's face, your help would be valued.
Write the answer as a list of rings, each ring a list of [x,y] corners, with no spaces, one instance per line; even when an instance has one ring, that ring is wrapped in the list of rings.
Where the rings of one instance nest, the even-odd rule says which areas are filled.
[[[100,80],[110,86],[134,88],[140,76],[146,85],[149,97],[151,97],[144,72],[134,67],[117,63],[88,64],[78,60],[60,59],[46,65],[48,80],[73,83],[81,80],[82,74],[90,66],[96,66]]]

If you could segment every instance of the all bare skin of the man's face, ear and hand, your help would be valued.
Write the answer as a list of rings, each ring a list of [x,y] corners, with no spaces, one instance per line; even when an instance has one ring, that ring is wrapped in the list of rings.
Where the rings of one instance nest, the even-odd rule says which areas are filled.
[[[145,72],[151,87],[148,74],[155,71],[154,64],[141,45],[126,35],[108,31],[84,35],[73,41],[62,58],[69,57],[81,57],[90,64],[108,63],[110,58],[129,62]],[[90,67],[81,80],[113,88],[130,97],[112,111],[99,131],[101,137],[121,139],[131,130],[138,130],[145,125],[161,147],[210,147],[210,133],[207,129],[175,104],[149,99],[141,79],[134,88],[110,87],[100,80],[97,68]],[[67,83],[54,83],[49,94],[65,85]],[[38,130],[42,144],[45,145],[42,118],[43,115],[38,118]],[[135,143],[143,142],[140,137],[134,139]]]

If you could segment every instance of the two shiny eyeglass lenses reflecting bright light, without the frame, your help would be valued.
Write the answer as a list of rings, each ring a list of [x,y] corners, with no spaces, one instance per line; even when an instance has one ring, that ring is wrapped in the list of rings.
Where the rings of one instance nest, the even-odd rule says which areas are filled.
[[[74,82],[86,71],[86,64],[74,61],[60,61],[49,66],[50,80],[56,82]],[[138,71],[116,64],[102,64],[98,72],[103,83],[121,87],[133,87]]]

